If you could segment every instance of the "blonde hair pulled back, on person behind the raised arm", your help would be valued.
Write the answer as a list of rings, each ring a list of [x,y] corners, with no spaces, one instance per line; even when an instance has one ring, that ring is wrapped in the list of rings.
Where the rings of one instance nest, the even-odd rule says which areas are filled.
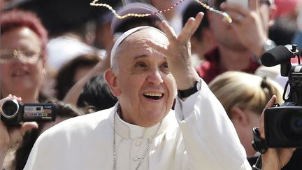
[[[273,95],[276,95],[279,104],[284,102],[283,90],[278,83],[250,73],[227,71],[212,80],[209,87],[228,115],[236,106],[261,114]]]

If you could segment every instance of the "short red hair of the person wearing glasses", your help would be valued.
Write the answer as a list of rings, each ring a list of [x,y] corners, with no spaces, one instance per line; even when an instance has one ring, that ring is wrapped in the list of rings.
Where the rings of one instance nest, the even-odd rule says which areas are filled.
[[[45,56],[48,31],[34,13],[24,10],[9,10],[1,12],[0,18],[1,35],[15,28],[27,27],[41,39],[43,55]]]

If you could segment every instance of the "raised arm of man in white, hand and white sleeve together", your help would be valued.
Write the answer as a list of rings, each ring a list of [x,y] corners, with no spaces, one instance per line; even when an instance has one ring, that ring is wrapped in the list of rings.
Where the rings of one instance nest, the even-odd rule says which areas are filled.
[[[163,22],[169,44],[150,42],[152,48],[167,56],[178,90],[190,89],[201,80],[191,61],[189,39],[202,17],[203,13],[199,13],[195,19],[190,18],[178,36]],[[186,99],[176,100],[175,114],[190,169],[251,169],[231,120],[206,83],[202,81],[201,89]]]

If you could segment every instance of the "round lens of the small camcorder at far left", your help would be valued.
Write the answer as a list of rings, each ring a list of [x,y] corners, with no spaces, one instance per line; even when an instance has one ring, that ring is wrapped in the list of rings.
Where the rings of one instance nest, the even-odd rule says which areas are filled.
[[[2,111],[3,116],[6,118],[13,118],[17,111],[19,110],[19,104],[16,99],[3,101]]]

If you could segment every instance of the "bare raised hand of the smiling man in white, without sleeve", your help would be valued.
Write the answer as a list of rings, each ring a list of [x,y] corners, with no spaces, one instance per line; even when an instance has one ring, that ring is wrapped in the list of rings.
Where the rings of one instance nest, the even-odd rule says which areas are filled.
[[[191,17],[179,35],[166,22],[161,23],[161,28],[164,30],[168,41],[168,46],[158,45],[152,41],[148,44],[162,54],[167,56],[168,68],[173,74],[178,90],[186,90],[194,86],[196,80],[199,80],[199,75],[194,69],[191,61],[191,44],[190,38],[201,23],[203,13],[198,13],[196,18]]]

